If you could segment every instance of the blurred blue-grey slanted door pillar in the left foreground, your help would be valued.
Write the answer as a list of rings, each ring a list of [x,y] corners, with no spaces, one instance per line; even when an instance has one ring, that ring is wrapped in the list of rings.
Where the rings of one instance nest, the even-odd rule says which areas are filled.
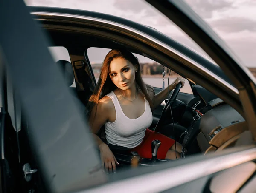
[[[105,182],[82,112],[52,60],[48,40],[23,1],[0,1],[0,25],[1,54],[29,124],[29,140],[43,186],[50,192],[73,192]],[[3,143],[1,138],[2,148]]]

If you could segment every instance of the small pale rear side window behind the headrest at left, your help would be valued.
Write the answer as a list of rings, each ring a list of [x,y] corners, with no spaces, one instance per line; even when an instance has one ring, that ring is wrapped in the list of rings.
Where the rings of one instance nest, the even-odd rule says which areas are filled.
[[[52,54],[54,62],[58,62],[59,60],[66,60],[68,62],[71,62],[67,48],[61,46],[52,46],[48,47],[48,49]],[[75,78],[73,84],[70,87],[76,87]]]

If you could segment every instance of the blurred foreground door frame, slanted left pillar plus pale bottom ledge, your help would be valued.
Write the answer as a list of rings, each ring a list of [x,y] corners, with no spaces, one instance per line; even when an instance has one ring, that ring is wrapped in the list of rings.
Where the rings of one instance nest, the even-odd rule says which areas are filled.
[[[192,184],[188,190],[204,191],[209,187],[208,179],[218,175],[219,171],[255,159],[255,148],[236,149],[212,159],[197,156],[107,178],[99,170],[99,157],[87,125],[79,116],[78,108],[75,108],[47,51],[44,35],[35,26],[22,1],[1,1],[0,5],[0,24],[4,27],[0,44],[11,68],[13,84],[29,117],[30,139],[40,172],[51,192],[161,192],[174,189],[181,192],[185,183]],[[15,28],[9,28],[10,24]],[[17,51],[16,57],[13,57],[14,51]],[[210,169],[202,167],[204,165]],[[105,183],[107,181],[111,183]],[[93,188],[85,190],[87,187]]]

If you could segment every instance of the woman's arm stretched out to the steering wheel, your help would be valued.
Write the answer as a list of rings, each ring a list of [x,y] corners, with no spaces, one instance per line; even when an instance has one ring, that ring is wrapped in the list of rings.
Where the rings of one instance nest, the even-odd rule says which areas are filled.
[[[175,81],[172,82],[171,85],[169,85],[169,92],[172,91],[178,83],[182,84],[182,87],[185,84],[185,80],[177,77]],[[160,91],[159,93],[155,94],[153,97],[153,109],[157,108],[163,101],[168,97],[168,87],[163,89],[163,91]]]

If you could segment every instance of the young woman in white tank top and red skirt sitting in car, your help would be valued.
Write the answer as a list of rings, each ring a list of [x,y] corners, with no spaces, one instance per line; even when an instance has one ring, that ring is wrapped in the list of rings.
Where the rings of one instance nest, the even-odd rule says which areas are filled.
[[[177,79],[169,85],[169,91],[184,79]],[[89,99],[89,124],[99,145],[102,164],[115,170],[117,161],[107,144],[119,145],[137,151],[140,157],[151,158],[151,142],[161,141],[158,159],[180,158],[182,146],[175,140],[148,129],[153,120],[152,110],[167,98],[168,88],[159,94],[145,85],[138,59],[128,50],[111,50],[102,64],[96,88]],[[97,135],[105,125],[107,144]]]

